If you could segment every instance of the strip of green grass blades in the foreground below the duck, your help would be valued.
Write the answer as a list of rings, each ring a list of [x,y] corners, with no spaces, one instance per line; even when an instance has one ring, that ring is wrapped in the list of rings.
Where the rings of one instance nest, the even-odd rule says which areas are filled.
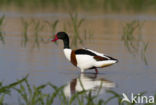
[[[30,85],[27,76],[23,79],[17,80],[17,82],[11,83],[9,85],[3,86],[2,82],[0,82],[0,105],[4,104],[5,95],[11,94],[13,90],[17,92],[19,95],[19,103],[20,105],[53,105],[55,103],[55,99],[59,99],[59,103],[61,105],[108,105],[112,101],[116,103],[116,105],[137,105],[137,103],[129,103],[129,102],[121,102],[122,95],[113,91],[107,90],[107,94],[111,96],[107,99],[98,98],[99,91],[102,89],[98,88],[97,94],[92,94],[93,90],[85,90],[74,93],[71,97],[66,97],[63,89],[65,86],[57,87],[52,83],[45,83],[39,86]],[[83,87],[83,85],[82,85]],[[53,90],[53,92],[45,92],[45,90]],[[144,95],[145,92],[141,92],[139,96]],[[134,95],[134,96],[137,96]],[[10,95],[11,97],[11,95]],[[156,99],[156,95],[155,95]],[[7,102],[7,100],[5,101]],[[156,101],[155,101],[156,102]],[[5,103],[7,104],[7,103]],[[144,105],[154,105],[153,104],[144,104]]]

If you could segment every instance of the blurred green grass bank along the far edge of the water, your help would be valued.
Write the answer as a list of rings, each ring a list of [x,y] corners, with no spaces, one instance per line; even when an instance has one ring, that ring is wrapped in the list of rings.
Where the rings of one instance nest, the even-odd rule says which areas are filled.
[[[155,11],[155,0],[0,0],[1,7],[15,5],[20,9],[23,7],[33,8],[61,8],[66,10],[104,10],[104,11]],[[34,9],[34,8],[33,8]]]

